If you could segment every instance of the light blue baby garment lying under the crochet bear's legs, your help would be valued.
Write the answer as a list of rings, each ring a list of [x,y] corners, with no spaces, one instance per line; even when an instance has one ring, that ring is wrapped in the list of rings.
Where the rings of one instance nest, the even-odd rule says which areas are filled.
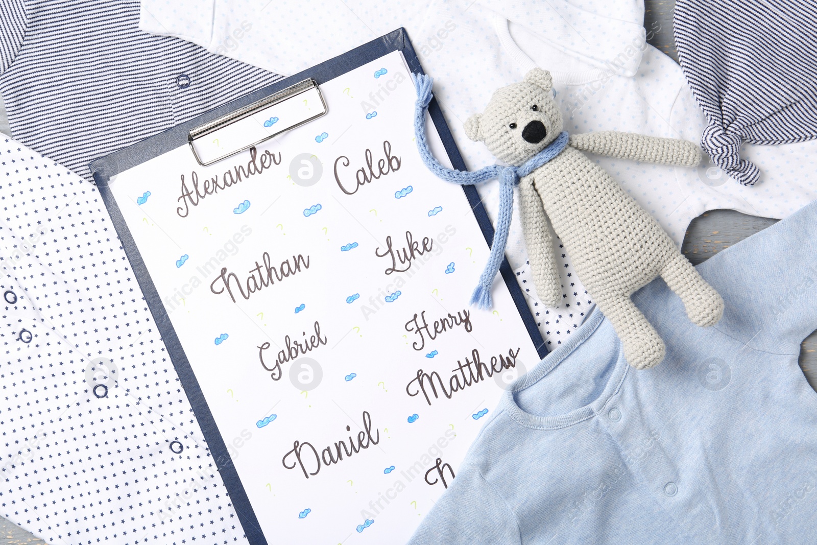
[[[797,364],[817,203],[698,270],[718,324],[655,280],[633,300],[667,356],[636,371],[594,310],[509,386],[410,543],[817,543],[817,393]]]

